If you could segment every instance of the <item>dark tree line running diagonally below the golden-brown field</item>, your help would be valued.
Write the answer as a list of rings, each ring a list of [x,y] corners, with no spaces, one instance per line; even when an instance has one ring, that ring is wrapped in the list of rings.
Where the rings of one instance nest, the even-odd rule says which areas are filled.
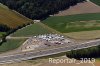
[[[6,26],[6,25],[0,25],[0,29],[1,30],[3,30],[3,31],[1,31],[0,30],[0,32],[6,32],[6,34],[2,34],[2,36],[0,37],[0,45],[2,45],[4,42],[6,42],[7,40],[6,40],[6,36],[8,36],[8,35],[10,35],[10,34],[12,34],[12,33],[14,33],[14,32],[16,32],[18,29],[21,29],[21,28],[23,28],[23,27],[25,27],[25,26],[27,26],[27,25],[30,25],[30,24],[32,24],[33,22],[30,22],[30,23],[27,23],[27,24],[23,24],[23,25],[21,25],[21,26],[18,26],[18,27],[16,27],[16,28],[10,28],[10,27],[8,27],[8,26]]]

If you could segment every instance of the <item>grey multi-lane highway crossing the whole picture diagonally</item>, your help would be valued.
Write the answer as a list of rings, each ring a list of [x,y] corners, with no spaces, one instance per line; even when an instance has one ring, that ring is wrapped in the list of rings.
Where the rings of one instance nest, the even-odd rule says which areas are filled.
[[[32,58],[43,57],[43,56],[53,55],[61,52],[67,52],[70,50],[83,49],[83,48],[88,48],[88,47],[98,46],[98,45],[100,45],[100,39],[81,43],[81,44],[74,44],[70,46],[60,47],[60,48],[41,50],[38,52],[30,51],[27,53],[21,53],[15,55],[0,56],[0,64],[20,62],[22,60],[28,60]]]

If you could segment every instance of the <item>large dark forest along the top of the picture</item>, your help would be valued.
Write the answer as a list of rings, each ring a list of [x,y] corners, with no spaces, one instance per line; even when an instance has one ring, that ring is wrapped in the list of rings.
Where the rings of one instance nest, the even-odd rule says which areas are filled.
[[[0,0],[10,9],[31,19],[44,19],[85,0]]]

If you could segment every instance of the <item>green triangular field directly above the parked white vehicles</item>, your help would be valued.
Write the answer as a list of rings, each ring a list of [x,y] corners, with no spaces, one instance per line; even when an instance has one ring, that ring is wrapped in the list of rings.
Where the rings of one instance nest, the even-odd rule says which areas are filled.
[[[51,31],[45,29],[38,23],[32,24],[28,27],[25,27],[21,30],[16,31],[12,36],[33,36],[33,35],[39,35],[39,34],[47,34],[51,33]]]

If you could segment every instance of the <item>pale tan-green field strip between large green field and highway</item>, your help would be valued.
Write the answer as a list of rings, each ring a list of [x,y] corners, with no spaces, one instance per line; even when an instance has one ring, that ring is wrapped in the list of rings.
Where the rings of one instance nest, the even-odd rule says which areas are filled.
[[[64,33],[64,35],[79,40],[100,39],[100,30]]]

